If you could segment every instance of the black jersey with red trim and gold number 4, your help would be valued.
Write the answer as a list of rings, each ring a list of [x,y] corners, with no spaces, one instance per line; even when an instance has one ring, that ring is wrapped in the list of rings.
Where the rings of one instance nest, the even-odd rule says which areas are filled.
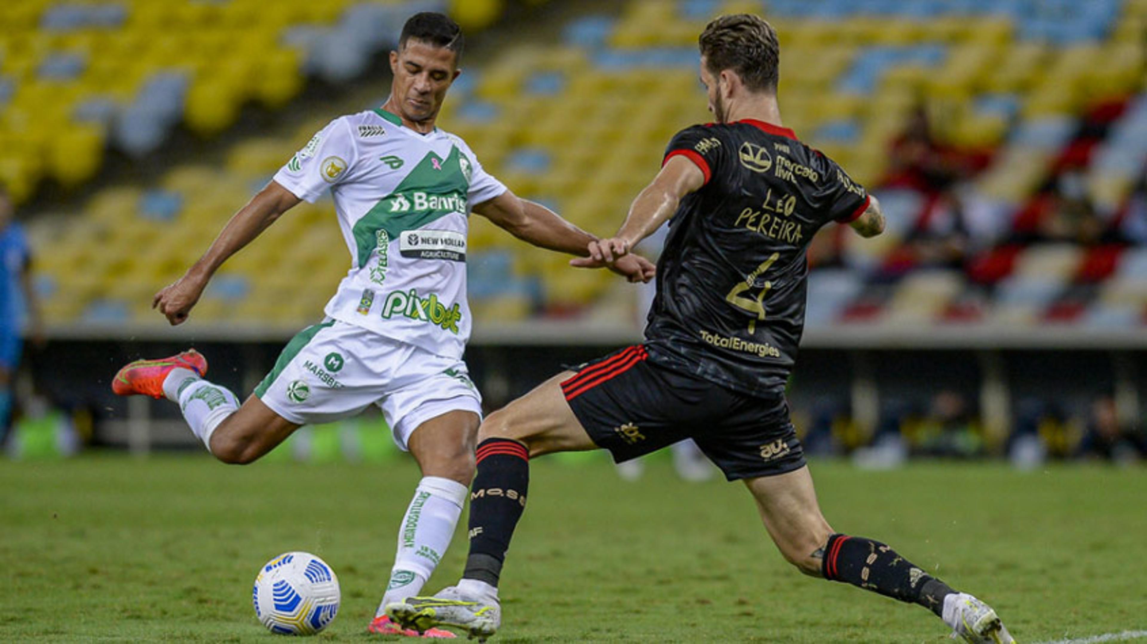
[[[704,186],[681,199],[657,262],[649,360],[754,395],[783,392],[804,329],[805,249],[868,195],[791,129],[697,125],[669,143]]]

